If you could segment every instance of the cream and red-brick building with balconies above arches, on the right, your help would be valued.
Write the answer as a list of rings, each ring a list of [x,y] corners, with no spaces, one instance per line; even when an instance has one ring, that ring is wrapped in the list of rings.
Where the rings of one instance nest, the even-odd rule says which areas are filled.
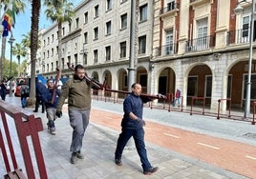
[[[205,99],[217,109],[219,99],[245,105],[251,0],[156,0],[153,32],[154,77],[151,87],[162,93],[181,89],[183,105]],[[237,4],[244,7],[236,15]],[[255,32],[253,39],[255,40]],[[252,58],[255,59],[253,49]],[[252,61],[251,100],[256,98]],[[226,107],[226,101],[222,108]]]

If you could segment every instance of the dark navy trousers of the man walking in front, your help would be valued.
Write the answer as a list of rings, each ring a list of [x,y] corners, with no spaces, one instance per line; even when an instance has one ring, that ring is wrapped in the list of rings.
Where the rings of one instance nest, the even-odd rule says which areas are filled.
[[[144,129],[125,129],[122,128],[122,132],[117,139],[117,149],[115,152],[115,159],[121,159],[122,151],[131,137],[134,137],[135,146],[139,153],[140,162],[142,163],[143,171],[149,171],[152,168],[147,158],[147,151],[144,143]]]

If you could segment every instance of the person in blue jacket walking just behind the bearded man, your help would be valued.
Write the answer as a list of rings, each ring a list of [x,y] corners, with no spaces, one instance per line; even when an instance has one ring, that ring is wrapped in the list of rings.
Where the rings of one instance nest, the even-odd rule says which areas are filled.
[[[54,88],[56,87],[54,87],[53,80],[49,79],[47,80],[47,89],[45,91],[43,91],[44,89],[39,89],[39,92],[42,93],[42,101],[45,103],[46,116],[48,118],[47,126],[51,134],[55,134],[54,121],[56,119],[56,106],[60,95],[59,89],[55,89],[55,92],[53,92]]]

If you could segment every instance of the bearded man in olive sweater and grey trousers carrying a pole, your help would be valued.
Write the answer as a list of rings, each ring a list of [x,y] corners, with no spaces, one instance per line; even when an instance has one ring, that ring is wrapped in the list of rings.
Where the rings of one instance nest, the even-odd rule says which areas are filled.
[[[81,65],[75,66],[74,78],[68,80],[61,88],[61,94],[56,107],[56,116],[61,117],[62,106],[68,98],[68,110],[70,125],[73,128],[72,143],[70,147],[71,163],[75,164],[76,159],[83,159],[81,153],[82,142],[85,130],[89,124],[91,111],[91,88],[92,85],[85,80],[85,70]]]

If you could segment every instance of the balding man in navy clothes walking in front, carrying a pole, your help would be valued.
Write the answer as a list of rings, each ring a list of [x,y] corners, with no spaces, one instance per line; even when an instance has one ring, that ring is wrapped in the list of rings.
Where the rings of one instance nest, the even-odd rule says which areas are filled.
[[[122,166],[122,151],[128,140],[133,136],[140,162],[142,163],[143,174],[150,175],[159,169],[158,167],[151,166],[144,142],[143,126],[145,126],[145,121],[142,119],[143,103],[147,103],[151,101],[151,99],[145,97],[140,98],[140,93],[141,85],[139,83],[133,84],[132,93],[130,93],[123,102],[124,115],[121,121],[121,133],[117,139],[115,162],[117,166]]]

